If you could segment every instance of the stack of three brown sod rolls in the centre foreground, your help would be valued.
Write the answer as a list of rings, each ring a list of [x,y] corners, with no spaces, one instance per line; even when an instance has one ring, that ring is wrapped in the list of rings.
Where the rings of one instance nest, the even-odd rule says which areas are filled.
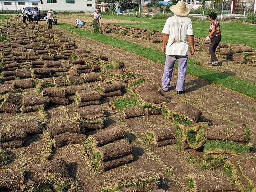
[[[86,151],[98,171],[107,171],[133,161],[132,147],[124,138],[124,130],[118,126],[90,135]]]

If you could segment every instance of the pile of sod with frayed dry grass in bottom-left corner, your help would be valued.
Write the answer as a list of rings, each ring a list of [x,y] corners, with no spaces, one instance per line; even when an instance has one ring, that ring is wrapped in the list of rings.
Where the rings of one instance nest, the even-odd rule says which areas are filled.
[[[63,158],[26,167],[21,170],[0,173],[0,188],[10,190],[81,191],[80,185],[69,176]]]

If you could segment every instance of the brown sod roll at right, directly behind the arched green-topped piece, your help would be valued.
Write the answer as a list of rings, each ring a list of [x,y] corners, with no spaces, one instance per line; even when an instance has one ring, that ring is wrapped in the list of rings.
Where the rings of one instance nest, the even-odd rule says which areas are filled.
[[[207,140],[231,140],[245,142],[245,124],[218,125],[204,128],[204,137]]]

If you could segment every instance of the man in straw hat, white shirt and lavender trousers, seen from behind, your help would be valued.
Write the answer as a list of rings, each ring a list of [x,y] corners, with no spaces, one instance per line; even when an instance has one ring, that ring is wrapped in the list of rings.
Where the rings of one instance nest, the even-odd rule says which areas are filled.
[[[185,15],[188,15],[190,12],[190,8],[185,5],[184,1],[179,1],[176,5],[172,5],[170,10],[174,12],[175,15],[166,20],[162,31],[162,33],[164,33],[162,52],[166,54],[164,74],[162,78],[162,90],[169,90],[174,63],[178,60],[176,91],[177,94],[182,94],[185,93],[184,82],[189,54],[188,41],[191,46],[191,55],[193,55],[195,52],[194,34],[191,19],[185,17]]]

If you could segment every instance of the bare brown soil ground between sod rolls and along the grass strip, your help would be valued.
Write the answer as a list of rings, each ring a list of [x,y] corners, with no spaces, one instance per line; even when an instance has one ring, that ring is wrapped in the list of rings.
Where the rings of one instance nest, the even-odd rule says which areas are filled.
[[[74,15],[70,17],[67,16],[67,18],[60,17],[60,19],[58,18],[58,22],[74,24],[74,18],[76,18]],[[104,19],[101,20],[101,22],[103,21],[105,22]],[[42,20],[39,22],[44,21]],[[161,78],[164,70],[162,64],[107,44],[99,44],[89,38],[58,28],[58,25],[54,25],[53,29],[63,31],[63,36],[68,37],[69,41],[75,42],[78,47],[90,50],[91,53],[95,55],[106,56],[110,61],[118,59],[124,62],[126,68],[133,71],[136,75],[144,76],[153,80],[156,84],[161,85]],[[82,30],[87,29],[83,28]],[[133,40],[123,36],[120,38],[127,41]],[[135,43],[136,41],[137,39],[134,39],[132,42]],[[146,40],[140,40],[140,44],[143,41]],[[145,44],[148,46],[152,45],[152,47],[159,46],[158,49],[160,48],[160,44],[150,44],[149,41]],[[248,76],[244,77],[244,79],[254,79],[255,81],[255,72],[252,72],[254,71],[254,68],[250,68],[249,66],[232,68],[232,62],[223,62],[222,66],[218,67],[207,66],[204,64],[205,61],[208,60],[207,54],[204,54],[204,57],[200,57],[196,53],[191,59],[198,60],[201,65],[216,71],[234,73],[239,78],[245,76],[241,75],[240,68],[243,68],[244,74],[248,73]],[[228,66],[227,63],[229,63]],[[172,101],[186,101],[191,105],[196,106],[202,111],[201,120],[209,121],[213,125],[245,123],[252,131],[250,136],[251,142],[256,144],[255,100],[201,81],[189,75],[187,75],[185,82],[186,93],[177,95],[175,91],[177,76],[177,71],[174,70],[170,91],[162,93],[166,98]],[[162,115],[124,119],[119,112],[111,108],[108,104],[109,100],[119,97],[120,96],[105,99],[105,102],[102,104],[104,110],[108,111],[105,114],[108,117],[108,125],[106,127],[120,125],[125,129],[127,132],[125,137],[130,141],[133,147],[134,162],[103,173],[98,173],[92,168],[92,162],[88,158],[84,147],[79,144],[66,145],[56,149],[52,158],[64,157],[67,162],[69,174],[81,183],[83,191],[100,191],[101,185],[105,182],[114,181],[118,176],[129,171],[138,172],[143,170],[160,174],[162,180],[164,179],[164,182],[160,187],[165,190],[170,192],[187,191],[187,183],[185,182],[187,173],[200,170],[197,164],[191,161],[191,157],[203,158],[203,153],[196,150],[178,151],[173,145],[160,148],[148,147],[145,143],[145,131],[149,128],[168,126],[170,125],[170,122]],[[59,121],[62,118],[68,119],[65,110],[67,109],[65,109],[64,106],[47,108],[45,111],[48,114],[48,121]],[[35,116],[38,115],[36,112],[33,114],[35,114]],[[0,113],[1,128],[7,129],[5,124],[17,116],[21,116],[21,114],[10,115],[7,113]],[[87,135],[90,134],[92,134],[92,132],[87,133]],[[43,155],[48,142],[49,138],[47,138],[45,133],[28,137],[25,147],[12,149],[12,152],[15,154],[15,159],[11,164],[0,167],[0,172],[22,169],[26,166],[44,162],[45,159]]]

